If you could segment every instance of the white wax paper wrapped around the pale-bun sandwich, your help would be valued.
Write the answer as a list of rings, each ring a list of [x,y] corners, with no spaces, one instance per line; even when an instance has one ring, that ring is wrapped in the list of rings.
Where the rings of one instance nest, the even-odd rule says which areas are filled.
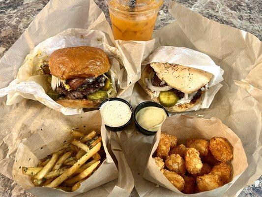
[[[215,94],[222,87],[220,82],[223,81],[222,75],[224,70],[222,70],[220,66],[217,66],[214,61],[204,53],[184,47],[160,46],[146,59],[143,65],[154,62],[193,67],[213,74],[202,95],[201,102],[186,111],[208,108]]]

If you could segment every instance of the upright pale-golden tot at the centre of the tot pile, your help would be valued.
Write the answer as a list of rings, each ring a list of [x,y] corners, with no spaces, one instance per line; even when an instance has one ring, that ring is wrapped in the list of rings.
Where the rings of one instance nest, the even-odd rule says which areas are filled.
[[[185,154],[185,166],[190,174],[197,174],[201,172],[203,166],[200,154],[195,148],[188,148]]]

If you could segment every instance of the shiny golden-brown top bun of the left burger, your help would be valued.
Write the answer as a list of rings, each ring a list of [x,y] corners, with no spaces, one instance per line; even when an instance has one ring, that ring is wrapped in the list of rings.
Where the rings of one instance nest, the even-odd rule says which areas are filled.
[[[110,69],[107,54],[99,48],[78,46],[58,49],[51,54],[51,74],[60,79],[97,77]]]

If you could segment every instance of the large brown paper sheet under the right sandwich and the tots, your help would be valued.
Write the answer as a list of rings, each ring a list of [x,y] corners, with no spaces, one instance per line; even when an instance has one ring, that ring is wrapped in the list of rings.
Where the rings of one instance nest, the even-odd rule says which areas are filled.
[[[175,21],[154,33],[154,48],[190,48],[207,54],[224,70],[224,81],[220,82],[223,86],[209,108],[182,114],[204,119],[219,118],[241,139],[248,167],[223,195],[237,197],[245,186],[262,174],[262,43],[251,33],[221,25],[174,1],[169,11]],[[150,97],[136,84],[131,101],[140,103],[144,100],[150,100]],[[156,187],[155,183],[143,178],[153,136],[145,136],[130,126],[119,133],[119,138],[140,197],[183,196],[162,186]]]

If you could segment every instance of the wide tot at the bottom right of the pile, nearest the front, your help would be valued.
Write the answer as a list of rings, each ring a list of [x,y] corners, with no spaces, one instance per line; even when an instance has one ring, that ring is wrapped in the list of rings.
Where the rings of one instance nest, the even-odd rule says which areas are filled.
[[[205,174],[196,178],[197,187],[199,192],[209,191],[223,186],[223,182],[220,180],[217,174]]]

